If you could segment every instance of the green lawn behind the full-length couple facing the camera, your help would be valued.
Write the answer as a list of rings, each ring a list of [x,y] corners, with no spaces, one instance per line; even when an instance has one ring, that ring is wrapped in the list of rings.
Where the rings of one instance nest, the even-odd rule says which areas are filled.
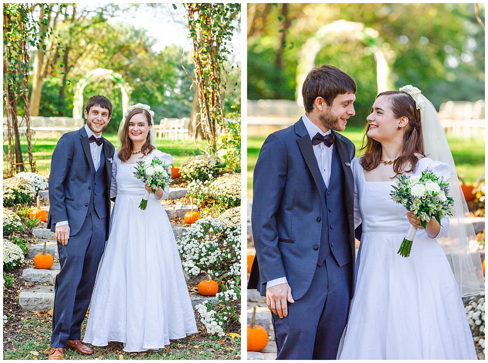
[[[103,137],[115,145],[117,134],[103,134]],[[33,145],[32,154],[34,160],[36,161],[36,168],[38,169],[39,174],[45,176],[49,175],[51,169],[51,156],[58,140],[59,139],[38,139]],[[22,138],[20,143],[22,145],[24,162],[27,162],[27,142],[25,141],[25,138]],[[186,161],[189,158],[192,150],[197,150],[197,146],[195,146],[193,141],[174,141],[162,139],[156,140],[156,145],[158,146],[158,150],[168,153],[173,157],[173,164],[176,167],[180,166],[183,161]],[[206,142],[197,141],[197,145],[204,149],[206,147]],[[5,140],[3,141],[3,151],[5,154],[7,153],[7,141]],[[3,170],[5,171],[7,167],[8,163],[5,159],[5,155],[3,155]],[[26,171],[30,171],[29,166],[27,166],[26,169]]]

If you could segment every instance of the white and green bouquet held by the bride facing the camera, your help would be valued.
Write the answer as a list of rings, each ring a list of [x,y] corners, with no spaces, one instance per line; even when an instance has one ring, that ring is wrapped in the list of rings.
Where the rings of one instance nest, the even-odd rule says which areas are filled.
[[[136,169],[134,176],[137,179],[142,180],[144,184],[149,184],[153,193],[156,193],[156,190],[158,190],[159,187],[164,189],[173,181],[169,165],[158,158],[152,159],[150,163],[138,161],[136,166],[134,166],[134,169]],[[146,209],[148,199],[149,192],[146,190],[144,197],[142,197],[141,204],[139,204],[139,208],[142,210]]]

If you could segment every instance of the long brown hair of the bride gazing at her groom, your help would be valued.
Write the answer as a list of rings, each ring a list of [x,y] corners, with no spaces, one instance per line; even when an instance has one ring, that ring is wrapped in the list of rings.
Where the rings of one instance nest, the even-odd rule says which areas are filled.
[[[405,126],[403,136],[402,152],[393,163],[393,170],[397,175],[402,174],[403,172],[410,173],[415,170],[417,161],[421,157],[425,157],[420,110],[417,109],[414,99],[405,92],[386,91],[380,93],[378,96],[376,96],[376,98],[380,96],[389,96],[389,100],[391,101],[391,109],[395,118],[408,118],[408,123]],[[366,171],[371,171],[380,164],[382,147],[380,142],[371,139],[366,134],[367,125],[366,133],[363,137],[363,145],[360,149],[365,150],[365,154],[361,158],[361,165]],[[411,166],[410,170],[405,170],[407,165]]]

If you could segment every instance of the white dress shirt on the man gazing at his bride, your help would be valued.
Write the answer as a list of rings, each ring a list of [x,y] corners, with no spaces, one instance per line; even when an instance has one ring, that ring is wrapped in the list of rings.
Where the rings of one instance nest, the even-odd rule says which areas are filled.
[[[327,132],[323,132],[316,124],[314,124],[308,119],[308,117],[306,117],[306,114],[302,116],[302,120],[304,121],[306,130],[308,131],[308,136],[310,136],[310,140],[312,140],[317,133],[320,133],[323,136],[331,133],[330,129]],[[334,151],[334,144],[330,145],[330,147],[327,147],[323,142],[321,142],[318,145],[312,145],[312,147],[315,154],[315,159],[317,159],[317,164],[319,165],[320,172],[322,174],[322,179],[324,179],[325,186],[328,187],[330,181],[330,165],[332,164],[332,152]],[[274,280],[269,280],[268,282],[266,282],[266,288],[286,282],[286,276]]]

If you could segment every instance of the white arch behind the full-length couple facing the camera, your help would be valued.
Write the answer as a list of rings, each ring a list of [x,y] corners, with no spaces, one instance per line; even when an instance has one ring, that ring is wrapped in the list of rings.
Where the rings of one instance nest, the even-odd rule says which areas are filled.
[[[120,88],[122,92],[122,115],[129,107],[129,92],[130,88],[126,85],[122,75],[114,72],[112,69],[97,68],[88,72],[81,80],[78,81],[75,88],[75,97],[73,101],[73,118],[83,118],[83,90],[90,82],[97,82],[102,80],[112,80]]]

